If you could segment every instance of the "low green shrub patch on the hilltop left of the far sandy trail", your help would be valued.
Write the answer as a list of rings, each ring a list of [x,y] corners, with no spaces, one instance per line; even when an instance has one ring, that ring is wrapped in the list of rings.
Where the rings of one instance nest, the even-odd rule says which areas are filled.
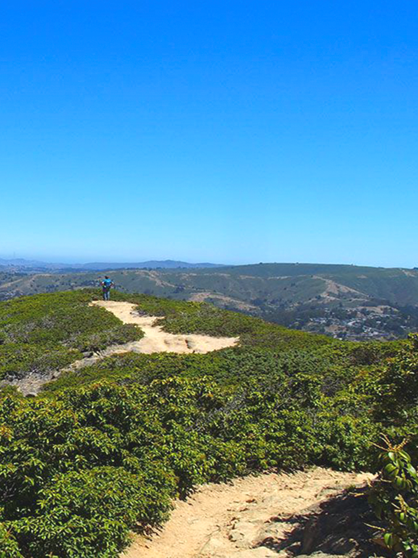
[[[78,291],[1,302],[0,379],[63,368],[85,352],[142,337],[90,301]]]

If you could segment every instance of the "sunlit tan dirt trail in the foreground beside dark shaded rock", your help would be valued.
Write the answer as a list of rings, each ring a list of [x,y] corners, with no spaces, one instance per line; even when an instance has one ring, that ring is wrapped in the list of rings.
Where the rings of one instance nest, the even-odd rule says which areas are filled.
[[[295,527],[296,517],[309,516],[315,505],[371,478],[367,473],[315,468],[295,474],[245,477],[232,484],[203,485],[187,501],[175,503],[161,532],[150,538],[137,536],[122,556],[284,558],[288,555],[281,549],[292,543],[285,541]],[[355,543],[352,546],[355,551]],[[295,554],[312,551],[306,545],[304,548],[304,543],[299,544],[298,550]],[[332,554],[350,553],[347,550]]]

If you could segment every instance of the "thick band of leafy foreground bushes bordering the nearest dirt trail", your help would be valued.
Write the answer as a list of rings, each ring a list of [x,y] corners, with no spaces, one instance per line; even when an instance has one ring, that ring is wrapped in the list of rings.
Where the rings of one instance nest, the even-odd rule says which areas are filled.
[[[358,468],[375,434],[307,374],[222,386],[172,376],[4,396],[0,520],[23,556],[116,556],[178,494],[271,466]]]

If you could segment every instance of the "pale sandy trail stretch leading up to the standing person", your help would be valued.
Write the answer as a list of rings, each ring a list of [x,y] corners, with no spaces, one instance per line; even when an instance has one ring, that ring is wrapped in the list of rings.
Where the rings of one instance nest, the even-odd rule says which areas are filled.
[[[209,353],[212,350],[232,347],[239,341],[237,337],[211,337],[210,335],[174,335],[163,331],[161,326],[154,325],[158,316],[140,316],[135,312],[136,305],[130,302],[117,302],[113,300],[96,300],[91,305],[100,306],[112,312],[125,324],[136,324],[145,336],[139,341],[133,341],[119,347],[110,348],[108,354],[126,352],[137,353]],[[107,351],[106,351],[107,352]]]

